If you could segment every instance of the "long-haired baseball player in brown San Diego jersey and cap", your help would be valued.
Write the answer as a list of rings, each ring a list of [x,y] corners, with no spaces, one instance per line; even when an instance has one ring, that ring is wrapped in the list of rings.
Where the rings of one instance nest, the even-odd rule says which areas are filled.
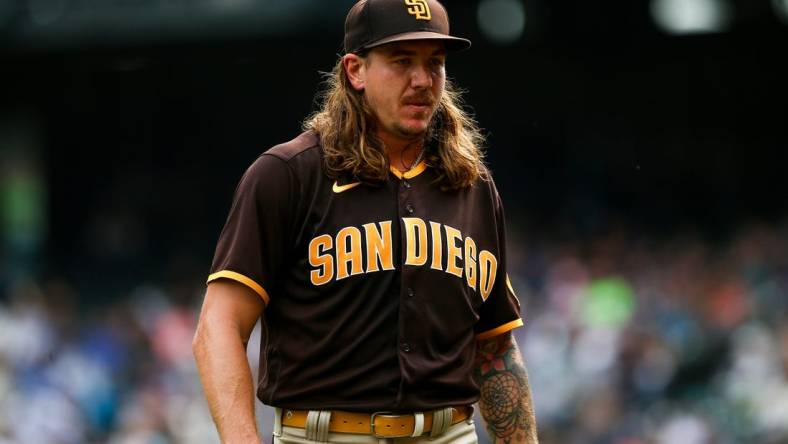
[[[194,354],[223,442],[536,442],[504,216],[482,137],[446,81],[436,0],[363,0],[322,109],[242,178]],[[481,398],[481,399],[480,399]]]

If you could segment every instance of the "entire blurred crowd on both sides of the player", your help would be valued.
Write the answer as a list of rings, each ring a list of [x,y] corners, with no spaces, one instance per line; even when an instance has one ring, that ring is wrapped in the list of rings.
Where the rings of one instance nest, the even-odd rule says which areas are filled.
[[[510,245],[542,443],[788,442],[788,225]],[[63,278],[5,287],[0,444],[218,442],[191,355],[203,279],[97,303]]]

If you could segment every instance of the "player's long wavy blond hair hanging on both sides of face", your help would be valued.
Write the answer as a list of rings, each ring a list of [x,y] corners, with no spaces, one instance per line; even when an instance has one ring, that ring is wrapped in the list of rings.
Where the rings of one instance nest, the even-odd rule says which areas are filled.
[[[385,181],[389,158],[376,136],[374,114],[363,92],[350,84],[341,58],[324,83],[320,109],[303,126],[320,137],[329,176],[350,175],[369,184]],[[462,107],[460,91],[447,79],[424,143],[424,159],[438,172],[442,189],[466,188],[487,178],[483,143],[476,121]]]

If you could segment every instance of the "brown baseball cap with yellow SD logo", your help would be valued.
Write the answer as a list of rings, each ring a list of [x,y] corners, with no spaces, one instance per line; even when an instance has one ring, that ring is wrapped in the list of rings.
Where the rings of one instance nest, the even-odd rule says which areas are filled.
[[[449,15],[437,0],[360,0],[345,19],[345,53],[404,40],[442,40],[459,51],[471,41],[449,35]]]

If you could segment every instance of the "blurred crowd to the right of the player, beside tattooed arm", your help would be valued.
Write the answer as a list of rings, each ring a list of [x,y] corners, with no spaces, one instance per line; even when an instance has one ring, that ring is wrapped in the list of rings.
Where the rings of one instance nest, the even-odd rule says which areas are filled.
[[[788,226],[513,244],[543,443],[788,442]]]

